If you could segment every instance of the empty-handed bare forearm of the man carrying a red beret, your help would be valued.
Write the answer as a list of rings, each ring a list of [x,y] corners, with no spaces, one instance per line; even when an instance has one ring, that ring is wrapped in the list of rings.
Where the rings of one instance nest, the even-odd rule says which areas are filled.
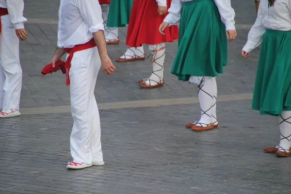
[[[94,32],[93,37],[97,45],[103,71],[106,74],[112,74],[116,67],[112,64],[108,56],[104,32],[103,31]]]

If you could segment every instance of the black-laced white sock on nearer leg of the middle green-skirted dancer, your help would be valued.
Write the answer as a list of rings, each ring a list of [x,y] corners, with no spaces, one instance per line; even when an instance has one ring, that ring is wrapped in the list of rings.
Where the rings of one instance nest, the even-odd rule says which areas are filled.
[[[202,79],[198,84],[198,98],[201,109],[201,117],[197,126],[206,127],[212,123],[212,103],[213,103],[213,79],[205,84],[205,79]]]

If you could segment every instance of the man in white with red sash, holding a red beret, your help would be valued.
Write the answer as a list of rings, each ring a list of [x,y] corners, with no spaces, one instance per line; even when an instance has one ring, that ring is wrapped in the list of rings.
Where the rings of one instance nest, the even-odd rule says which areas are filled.
[[[59,8],[58,48],[52,66],[67,54],[66,84],[70,85],[71,112],[74,125],[71,133],[69,169],[103,165],[100,141],[100,118],[94,88],[102,67],[113,73],[107,54],[101,7],[93,0],[61,0]],[[97,45],[97,47],[96,47]]]

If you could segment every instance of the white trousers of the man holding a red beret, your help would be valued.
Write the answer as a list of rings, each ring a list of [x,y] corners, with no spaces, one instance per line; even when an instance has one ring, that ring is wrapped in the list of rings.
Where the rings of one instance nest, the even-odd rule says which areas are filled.
[[[100,66],[96,47],[75,52],[73,55],[69,76],[71,112],[74,119],[70,144],[74,162],[103,162],[100,118],[94,96]]]

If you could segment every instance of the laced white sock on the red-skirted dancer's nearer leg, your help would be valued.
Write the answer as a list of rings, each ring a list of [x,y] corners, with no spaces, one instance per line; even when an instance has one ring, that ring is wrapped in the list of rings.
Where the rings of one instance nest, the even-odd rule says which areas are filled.
[[[163,48],[162,50],[151,52],[153,72],[150,77],[145,79],[144,81],[146,85],[157,85],[158,83],[163,82],[163,66],[165,62],[166,49]]]

